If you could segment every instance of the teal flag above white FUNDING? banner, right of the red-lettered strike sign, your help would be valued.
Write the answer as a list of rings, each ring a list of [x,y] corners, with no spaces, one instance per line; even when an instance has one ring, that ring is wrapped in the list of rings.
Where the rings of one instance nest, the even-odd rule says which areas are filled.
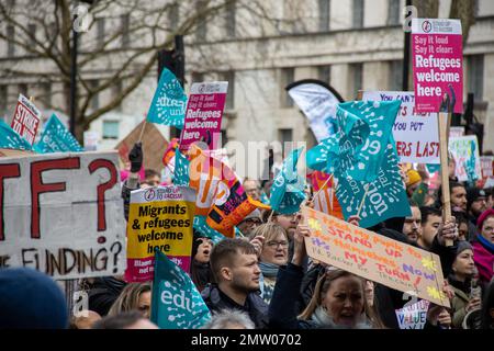
[[[46,123],[42,137],[34,145],[34,149],[40,154],[81,152],[85,150],[55,114],[52,114]]]

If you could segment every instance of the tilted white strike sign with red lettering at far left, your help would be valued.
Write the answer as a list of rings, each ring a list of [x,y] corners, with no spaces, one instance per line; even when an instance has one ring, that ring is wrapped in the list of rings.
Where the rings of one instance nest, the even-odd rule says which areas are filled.
[[[36,132],[40,126],[41,112],[23,94],[19,94],[18,105],[15,106],[14,116],[11,127],[24,137],[31,145],[34,144]]]

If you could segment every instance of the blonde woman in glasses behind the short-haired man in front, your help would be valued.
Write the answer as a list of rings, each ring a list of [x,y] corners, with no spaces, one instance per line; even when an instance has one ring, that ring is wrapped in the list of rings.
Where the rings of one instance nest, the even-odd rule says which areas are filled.
[[[267,223],[257,227],[250,239],[250,244],[256,247],[259,254],[261,297],[269,304],[274,291],[278,270],[288,261],[288,236],[280,225]]]

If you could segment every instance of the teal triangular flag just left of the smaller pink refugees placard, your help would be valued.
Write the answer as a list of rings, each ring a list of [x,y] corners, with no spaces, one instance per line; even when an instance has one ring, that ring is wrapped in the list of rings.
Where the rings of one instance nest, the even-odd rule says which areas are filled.
[[[164,68],[147,113],[147,121],[183,128],[187,95],[177,77]]]

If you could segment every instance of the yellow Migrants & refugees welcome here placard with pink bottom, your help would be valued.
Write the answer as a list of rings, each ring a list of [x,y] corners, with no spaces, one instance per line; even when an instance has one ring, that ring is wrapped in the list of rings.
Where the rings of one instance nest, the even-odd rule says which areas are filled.
[[[155,249],[189,272],[194,202],[195,192],[187,186],[154,186],[131,193],[126,281],[153,279]]]

